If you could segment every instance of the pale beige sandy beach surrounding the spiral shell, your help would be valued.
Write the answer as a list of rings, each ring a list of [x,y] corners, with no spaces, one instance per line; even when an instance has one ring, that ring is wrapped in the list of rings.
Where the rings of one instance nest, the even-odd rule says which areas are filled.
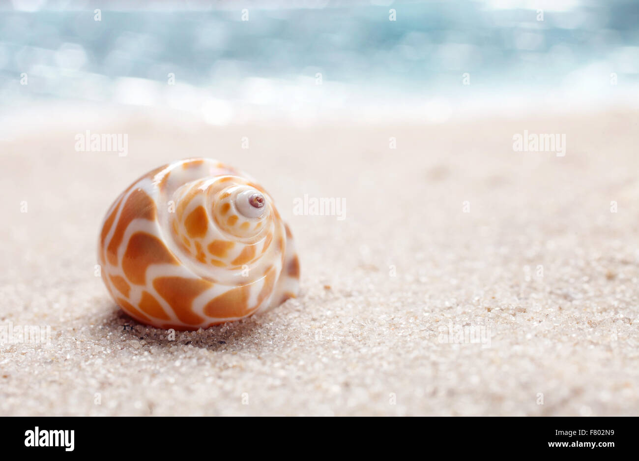
[[[639,413],[639,113],[178,120],[58,120],[1,142],[0,324],[50,341],[0,345],[0,414]],[[127,155],[77,152],[87,129],[127,134]],[[524,130],[565,134],[565,155],[514,151]],[[302,293],[172,340],[119,311],[96,241],[135,178],[201,156],[268,189]],[[343,219],[294,213],[305,194],[343,199]]]

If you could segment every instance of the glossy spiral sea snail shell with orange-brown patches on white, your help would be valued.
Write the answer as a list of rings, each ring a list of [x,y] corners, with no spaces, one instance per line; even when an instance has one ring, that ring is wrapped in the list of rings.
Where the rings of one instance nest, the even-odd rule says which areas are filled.
[[[187,159],[139,178],[111,205],[102,279],[139,322],[194,330],[238,320],[299,290],[291,231],[250,176]]]

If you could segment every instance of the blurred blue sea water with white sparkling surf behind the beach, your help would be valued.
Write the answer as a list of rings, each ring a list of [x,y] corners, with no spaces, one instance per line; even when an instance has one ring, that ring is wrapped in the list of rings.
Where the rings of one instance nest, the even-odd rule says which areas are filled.
[[[637,1],[313,4],[323,7],[111,4],[100,20],[91,4],[0,10],[0,116],[91,104],[166,108],[215,125],[441,123],[639,106]]]

